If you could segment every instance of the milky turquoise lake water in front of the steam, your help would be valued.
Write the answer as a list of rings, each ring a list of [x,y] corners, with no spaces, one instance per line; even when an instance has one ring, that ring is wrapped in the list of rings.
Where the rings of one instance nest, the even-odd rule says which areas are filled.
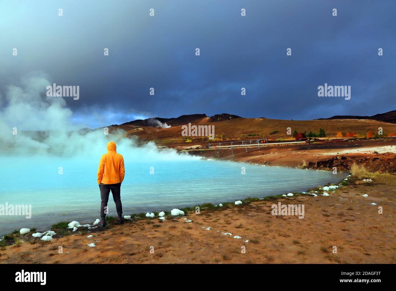
[[[61,220],[92,223],[99,218],[97,159],[62,157],[0,157],[0,204],[30,204],[32,217],[2,216],[0,234],[36,227],[46,230]],[[337,183],[346,173],[264,167],[207,160],[136,162],[124,155],[126,175],[121,186],[124,215],[171,210],[211,202],[242,200],[285,192],[303,192]],[[59,174],[59,167],[63,174]],[[150,174],[154,167],[154,174]],[[241,174],[241,167],[246,174]],[[110,194],[109,215],[116,215]]]

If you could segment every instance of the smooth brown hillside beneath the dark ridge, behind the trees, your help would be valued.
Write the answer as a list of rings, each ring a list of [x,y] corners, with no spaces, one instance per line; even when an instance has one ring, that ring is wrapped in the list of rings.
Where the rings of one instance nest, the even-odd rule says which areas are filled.
[[[188,123],[186,121],[186,123]],[[194,122],[192,122],[194,124]],[[325,129],[327,138],[335,138],[338,131],[341,131],[343,136],[346,133],[357,133],[364,135],[367,131],[374,134],[378,132],[378,127],[383,128],[383,136],[386,137],[389,133],[396,133],[396,124],[381,122],[377,120],[277,120],[267,118],[235,118],[231,120],[204,123],[200,121],[196,125],[210,125],[215,128],[215,135],[220,141],[231,140],[249,140],[249,139],[293,139],[291,135],[287,135],[287,127],[291,127],[291,132],[296,129],[298,132],[307,133],[318,132],[319,128]],[[112,129],[120,128],[127,131],[128,136],[137,135],[141,139],[154,140],[157,145],[169,146],[176,148],[177,146],[191,146],[208,144],[211,141],[207,137],[192,137],[191,143],[186,143],[182,139],[182,126],[173,126],[169,128],[156,127],[142,127],[143,129],[136,129],[134,125],[121,125],[113,127]],[[279,131],[270,135],[274,131]],[[249,134],[257,134],[257,136],[248,136]]]

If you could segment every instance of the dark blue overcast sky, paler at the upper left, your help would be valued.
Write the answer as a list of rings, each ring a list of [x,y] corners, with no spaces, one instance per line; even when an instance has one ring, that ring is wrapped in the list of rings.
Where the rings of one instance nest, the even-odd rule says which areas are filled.
[[[394,0],[2,0],[0,94],[29,74],[80,86],[79,100],[65,99],[90,127],[195,113],[373,115],[396,110],[395,15]],[[318,97],[324,83],[351,86],[351,99]]]

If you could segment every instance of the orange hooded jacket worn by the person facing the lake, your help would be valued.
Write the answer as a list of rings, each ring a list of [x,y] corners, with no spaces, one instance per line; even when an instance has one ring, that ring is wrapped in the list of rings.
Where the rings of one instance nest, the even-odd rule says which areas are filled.
[[[107,144],[107,154],[104,154],[99,162],[98,184],[116,184],[124,180],[124,158],[117,154],[116,148],[112,141]]]

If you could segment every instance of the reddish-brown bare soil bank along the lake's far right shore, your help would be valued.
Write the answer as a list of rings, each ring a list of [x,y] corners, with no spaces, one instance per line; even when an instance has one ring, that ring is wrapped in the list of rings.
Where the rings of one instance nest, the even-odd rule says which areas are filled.
[[[395,139],[371,139],[360,141],[348,141],[340,143],[314,143],[298,145],[278,145],[263,146],[261,148],[244,148],[234,149],[234,156],[231,150],[217,150],[221,160],[230,160],[235,162],[249,162],[253,164],[265,164],[270,166],[297,167],[308,164],[308,168],[333,170],[349,170],[353,162],[363,164],[370,171],[379,171],[381,173],[396,173],[396,154],[388,152],[383,154],[361,154],[359,149],[370,147],[379,148],[390,146],[396,151]],[[354,152],[349,154],[337,154],[339,151]],[[194,154],[205,156],[206,158],[215,158],[215,150],[200,152],[193,151]],[[335,152],[334,155],[327,153]]]

